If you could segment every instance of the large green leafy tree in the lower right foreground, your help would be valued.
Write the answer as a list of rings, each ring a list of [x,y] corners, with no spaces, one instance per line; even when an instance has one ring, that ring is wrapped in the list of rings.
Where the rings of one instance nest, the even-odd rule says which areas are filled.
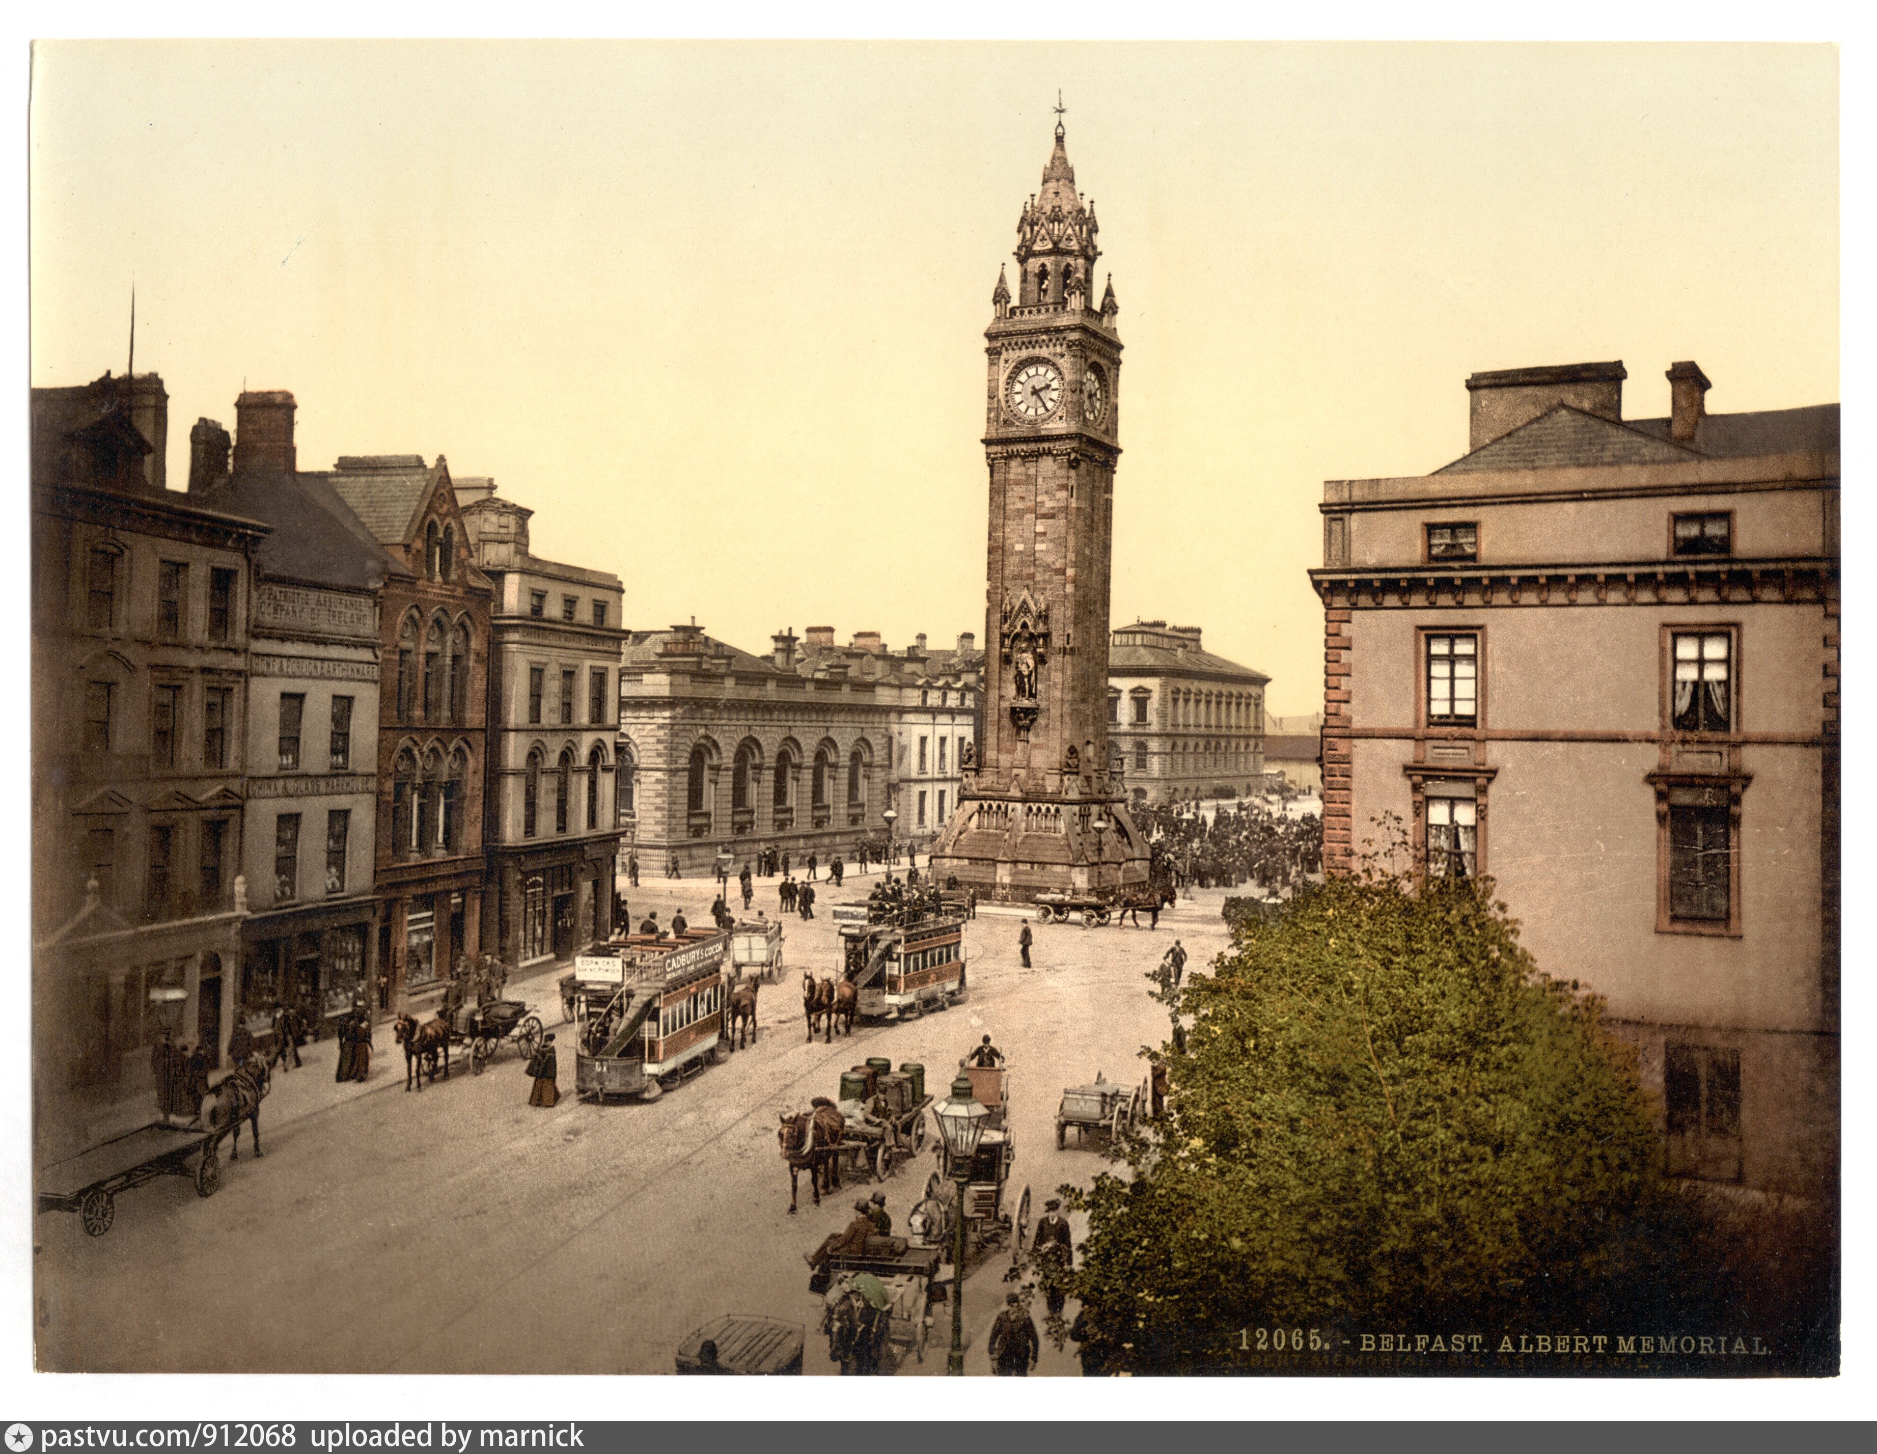
[[[1246,1326],[1582,1330],[1672,1298],[1687,1216],[1633,1053],[1490,884],[1335,878],[1156,996],[1167,1114],[1132,1176],[1064,1188],[1091,1214],[1094,1364],[1228,1366]]]

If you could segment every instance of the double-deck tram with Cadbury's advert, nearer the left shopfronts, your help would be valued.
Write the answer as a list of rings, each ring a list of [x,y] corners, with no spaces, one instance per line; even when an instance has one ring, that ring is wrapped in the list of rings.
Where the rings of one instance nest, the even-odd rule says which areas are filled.
[[[704,1069],[723,1043],[728,953],[730,936],[715,931],[627,938],[612,998],[580,1000],[574,1090],[649,1101]]]

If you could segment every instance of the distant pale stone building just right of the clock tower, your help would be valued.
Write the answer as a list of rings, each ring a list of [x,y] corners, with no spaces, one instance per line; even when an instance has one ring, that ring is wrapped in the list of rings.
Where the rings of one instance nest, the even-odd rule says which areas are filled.
[[[1181,803],[1263,792],[1269,681],[1201,649],[1199,627],[1115,627],[1107,732],[1132,799]]]

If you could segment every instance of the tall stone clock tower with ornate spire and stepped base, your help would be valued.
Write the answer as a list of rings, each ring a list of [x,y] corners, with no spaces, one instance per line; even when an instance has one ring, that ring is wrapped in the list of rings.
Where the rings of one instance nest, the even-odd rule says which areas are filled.
[[[991,471],[984,726],[933,872],[1027,902],[1147,882],[1147,844],[1107,754],[1107,578],[1121,458],[1113,281],[1094,304],[1094,204],[1061,118],[1017,220],[984,336]]]

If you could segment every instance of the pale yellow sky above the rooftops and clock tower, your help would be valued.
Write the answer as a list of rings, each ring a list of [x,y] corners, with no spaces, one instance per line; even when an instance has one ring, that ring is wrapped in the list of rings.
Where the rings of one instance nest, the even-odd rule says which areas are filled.
[[[1115,621],[1320,704],[1325,478],[1436,469],[1475,370],[1625,413],[1838,398],[1838,56],[1798,45],[54,43],[32,379],[302,467],[447,454],[627,621],[982,630],[991,287],[1068,103],[1126,343]]]

